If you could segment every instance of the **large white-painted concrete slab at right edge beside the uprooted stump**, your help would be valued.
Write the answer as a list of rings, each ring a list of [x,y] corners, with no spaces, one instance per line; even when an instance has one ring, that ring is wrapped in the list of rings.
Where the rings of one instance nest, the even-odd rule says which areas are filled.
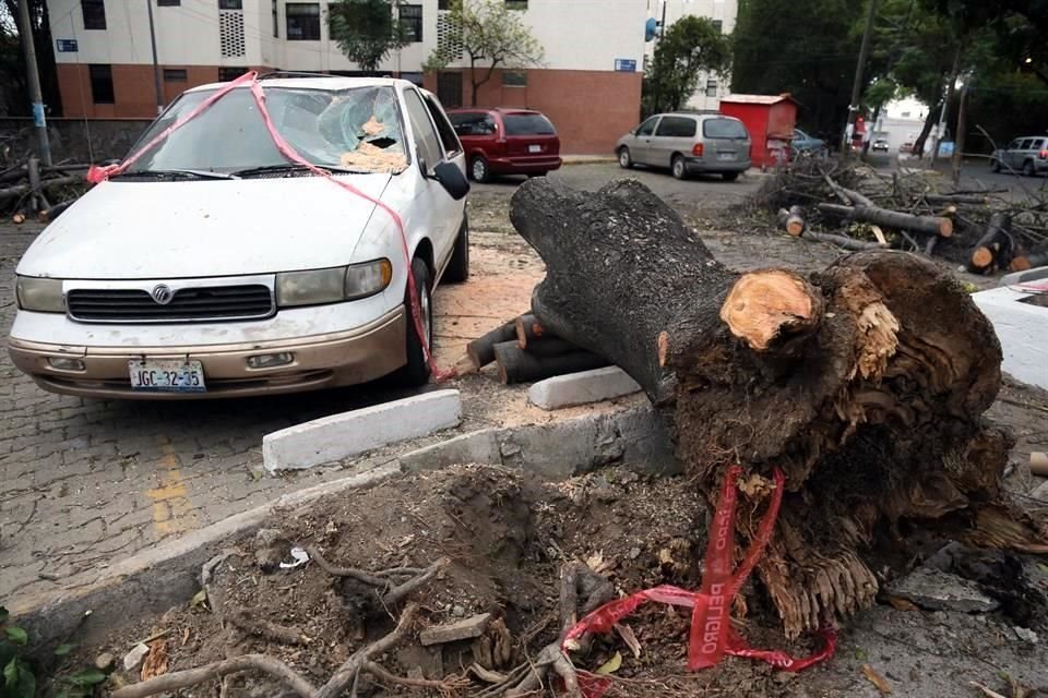
[[[1001,369],[1023,383],[1048,388],[1048,308],[1025,303],[1033,291],[995,288],[972,294],[1001,341]]]

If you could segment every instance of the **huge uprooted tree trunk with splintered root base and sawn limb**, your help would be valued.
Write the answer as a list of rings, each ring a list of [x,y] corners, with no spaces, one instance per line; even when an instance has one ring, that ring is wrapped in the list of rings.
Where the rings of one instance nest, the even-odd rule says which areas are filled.
[[[1000,486],[1009,437],[982,421],[1000,345],[934,264],[876,250],[808,277],[740,275],[635,181],[583,193],[531,180],[511,219],[547,266],[532,299],[543,326],[644,388],[711,504],[742,465],[740,543],[784,471],[758,571],[787,635],[872,603],[873,570],[913,552],[888,534],[903,520],[1048,550],[1048,526]]]

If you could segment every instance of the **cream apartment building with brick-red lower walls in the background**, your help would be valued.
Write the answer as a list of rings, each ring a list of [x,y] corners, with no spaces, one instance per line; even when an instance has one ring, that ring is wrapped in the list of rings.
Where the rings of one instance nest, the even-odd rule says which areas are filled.
[[[476,95],[468,68],[424,75],[453,46],[448,0],[397,3],[412,43],[382,72],[425,85],[448,107],[515,106],[546,112],[564,153],[607,153],[640,116],[647,0],[503,0],[545,50],[540,65],[497,70]],[[156,115],[152,3],[162,101],[247,70],[358,74],[331,39],[327,0],[48,0],[67,117]],[[452,43],[452,44],[449,44]]]

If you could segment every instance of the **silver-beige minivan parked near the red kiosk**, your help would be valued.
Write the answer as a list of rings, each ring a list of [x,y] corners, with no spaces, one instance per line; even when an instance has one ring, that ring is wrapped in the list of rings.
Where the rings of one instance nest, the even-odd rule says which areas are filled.
[[[735,117],[659,113],[619,139],[619,165],[668,167],[677,179],[699,172],[734,182],[750,168],[750,134]]]

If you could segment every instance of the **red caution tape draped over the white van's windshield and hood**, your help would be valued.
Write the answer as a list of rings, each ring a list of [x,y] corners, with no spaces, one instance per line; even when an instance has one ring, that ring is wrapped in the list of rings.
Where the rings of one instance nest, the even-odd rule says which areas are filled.
[[[108,166],[108,167],[92,166],[91,169],[87,170],[87,181],[91,182],[92,184],[97,184],[115,174],[119,174],[123,172],[129,167],[131,167],[140,157],[142,157],[145,153],[152,151],[154,147],[159,145],[171,133],[182,128],[189,121],[192,121],[193,119],[199,117],[201,113],[206,111],[212,105],[214,105],[216,101],[218,101],[219,99],[225,97],[227,94],[229,94],[233,89],[236,89],[237,87],[240,87],[245,84],[250,85],[251,95],[254,97],[254,103],[259,108],[259,113],[262,115],[262,120],[265,123],[265,128],[270,133],[270,137],[273,139],[273,144],[276,146],[276,149],[281,152],[281,155],[286,157],[288,160],[295,163],[296,165],[301,165],[302,167],[308,168],[318,177],[323,177],[329,182],[332,182],[333,184],[341,186],[347,192],[374,204],[377,207],[381,208],[386,215],[389,215],[390,218],[393,219],[393,222],[396,225],[396,229],[401,236],[401,246],[404,252],[404,262],[407,270],[408,301],[410,304],[410,313],[412,313],[412,321],[413,321],[412,325],[415,333],[418,335],[419,339],[421,340],[420,344],[422,346],[422,356],[426,358],[426,362],[429,364],[429,369],[433,375],[434,381],[440,383],[449,378],[453,378],[455,375],[457,375],[456,371],[454,369],[450,369],[450,370],[440,369],[437,365],[437,362],[433,360],[433,356],[430,350],[429,337],[426,336],[426,328],[425,328],[425,325],[422,324],[421,309],[419,308],[419,303],[418,303],[418,289],[415,287],[415,277],[412,274],[412,252],[407,242],[407,232],[404,229],[404,221],[401,219],[400,214],[397,214],[395,210],[393,210],[393,208],[384,204],[382,201],[368,195],[367,193],[357,189],[356,186],[345,181],[344,179],[333,177],[330,171],[313,165],[312,163],[303,158],[301,155],[299,155],[298,152],[295,151],[295,148],[291,147],[291,145],[284,139],[284,136],[281,135],[281,133],[276,130],[276,127],[273,125],[273,119],[270,118],[270,112],[265,108],[265,91],[262,89],[262,84],[258,81],[257,72],[251,71],[251,72],[245,73],[240,77],[237,77],[235,81],[230,82],[228,85],[216,91],[215,94],[207,97],[207,99],[200,103],[200,105],[198,105],[188,115],[186,115],[184,117],[179,119],[177,122],[175,122],[174,124],[165,129],[163,132],[158,133],[156,137],[154,137],[152,141],[146,143],[141,149],[136,151],[134,154],[128,157],[128,159],[126,159],[123,163],[120,163],[119,165]]]

